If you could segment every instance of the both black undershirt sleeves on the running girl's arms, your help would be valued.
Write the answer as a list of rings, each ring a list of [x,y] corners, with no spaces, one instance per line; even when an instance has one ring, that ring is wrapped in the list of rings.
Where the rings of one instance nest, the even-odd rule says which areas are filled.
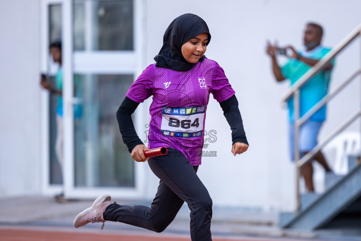
[[[225,115],[232,130],[232,144],[236,142],[243,142],[248,145],[236,96],[233,95],[231,98],[219,102],[219,104],[221,105],[223,115]],[[136,145],[144,144],[136,134],[131,117],[132,113],[134,113],[138,106],[138,102],[125,97],[117,111],[119,130],[122,134],[123,142],[127,145],[129,152],[131,152]]]

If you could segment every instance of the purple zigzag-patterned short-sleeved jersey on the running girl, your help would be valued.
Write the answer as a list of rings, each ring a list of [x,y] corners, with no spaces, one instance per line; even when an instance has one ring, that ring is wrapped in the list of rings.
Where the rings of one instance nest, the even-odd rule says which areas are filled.
[[[204,59],[184,72],[151,64],[132,84],[126,96],[141,103],[153,95],[149,107],[149,149],[174,148],[192,165],[200,165],[210,93],[221,102],[235,91],[217,62]]]

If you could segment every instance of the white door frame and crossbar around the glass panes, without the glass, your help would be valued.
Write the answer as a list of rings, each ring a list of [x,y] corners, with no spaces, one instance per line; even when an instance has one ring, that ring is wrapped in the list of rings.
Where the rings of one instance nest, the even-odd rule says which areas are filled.
[[[75,0],[76,1],[76,0]],[[62,56],[63,56],[63,119],[64,119],[64,168],[63,185],[49,184],[49,93],[42,93],[42,192],[44,195],[54,195],[64,191],[66,198],[96,198],[107,193],[116,198],[145,198],[145,166],[135,162],[134,187],[76,187],[74,182],[74,104],[73,73],[90,74],[133,74],[134,81],[145,68],[146,42],[145,38],[145,0],[133,0],[134,16],[134,51],[73,51],[73,0],[42,0],[42,44],[41,70],[46,72],[48,65],[48,5],[62,5]],[[97,60],[108,61],[103,65],[95,64]],[[140,60],[140,61],[139,61]],[[110,64],[113,63],[113,64]],[[117,63],[117,64],[114,64]],[[119,103],[120,105],[121,103]],[[144,107],[143,107],[144,108]],[[135,111],[135,129],[142,133],[147,114],[143,108]]]

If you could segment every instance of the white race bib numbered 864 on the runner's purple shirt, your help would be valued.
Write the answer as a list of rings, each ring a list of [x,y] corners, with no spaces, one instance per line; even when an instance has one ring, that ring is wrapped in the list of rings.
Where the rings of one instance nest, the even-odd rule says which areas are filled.
[[[169,137],[199,137],[207,106],[162,107],[163,135]]]

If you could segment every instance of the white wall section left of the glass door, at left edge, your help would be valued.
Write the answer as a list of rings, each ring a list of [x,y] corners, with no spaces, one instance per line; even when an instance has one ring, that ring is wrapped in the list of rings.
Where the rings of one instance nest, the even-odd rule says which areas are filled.
[[[40,192],[39,1],[0,1],[0,198]]]

